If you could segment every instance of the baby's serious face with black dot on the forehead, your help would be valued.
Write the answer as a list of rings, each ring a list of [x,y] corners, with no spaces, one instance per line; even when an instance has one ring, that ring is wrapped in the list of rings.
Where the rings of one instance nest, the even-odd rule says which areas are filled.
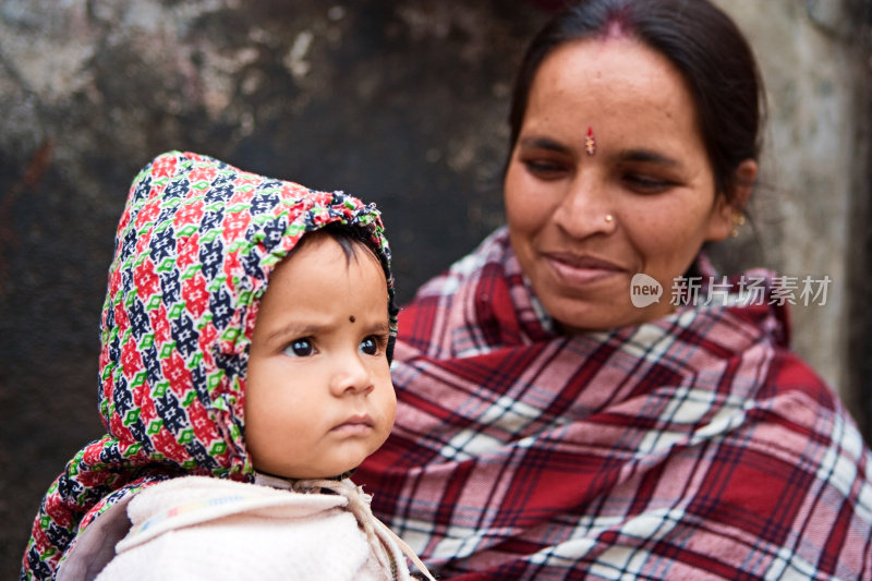
[[[272,274],[245,387],[255,469],[287,479],[356,468],[387,439],[397,398],[385,354],[388,291],[378,261],[312,237]]]

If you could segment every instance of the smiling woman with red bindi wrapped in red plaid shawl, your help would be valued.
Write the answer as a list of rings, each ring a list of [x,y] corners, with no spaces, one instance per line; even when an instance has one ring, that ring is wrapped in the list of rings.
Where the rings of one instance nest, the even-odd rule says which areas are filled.
[[[508,225],[401,313],[356,477],[437,576],[872,577],[869,450],[783,301],[701,254],[742,222],[762,102],[704,0],[591,0],[533,40]]]

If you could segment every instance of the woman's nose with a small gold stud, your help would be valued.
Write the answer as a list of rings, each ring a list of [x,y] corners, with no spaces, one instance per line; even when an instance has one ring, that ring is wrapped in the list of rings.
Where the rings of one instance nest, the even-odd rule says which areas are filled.
[[[615,208],[606,187],[593,175],[579,174],[567,185],[552,219],[570,238],[615,231]]]

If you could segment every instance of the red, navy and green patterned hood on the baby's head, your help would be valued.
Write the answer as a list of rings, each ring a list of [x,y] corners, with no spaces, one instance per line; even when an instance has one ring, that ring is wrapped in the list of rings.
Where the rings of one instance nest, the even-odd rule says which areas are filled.
[[[171,152],[134,180],[100,320],[108,434],[68,464],[34,523],[23,578],[50,577],[81,528],[128,492],[172,475],[253,480],[245,452],[249,346],[268,277],[306,232],[363,228],[397,310],[374,205]]]

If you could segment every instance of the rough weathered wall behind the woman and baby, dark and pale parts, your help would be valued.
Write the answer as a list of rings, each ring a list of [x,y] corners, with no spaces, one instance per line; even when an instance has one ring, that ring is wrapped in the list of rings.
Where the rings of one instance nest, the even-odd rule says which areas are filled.
[[[722,3],[773,94],[763,258],[834,279],[797,344],[839,384],[857,73],[807,2]],[[502,221],[509,84],[544,17],[501,0],[0,2],[0,576],[51,479],[102,433],[97,323],[136,170],[192,149],[375,201],[408,299]],[[754,247],[724,254],[756,264]]]

